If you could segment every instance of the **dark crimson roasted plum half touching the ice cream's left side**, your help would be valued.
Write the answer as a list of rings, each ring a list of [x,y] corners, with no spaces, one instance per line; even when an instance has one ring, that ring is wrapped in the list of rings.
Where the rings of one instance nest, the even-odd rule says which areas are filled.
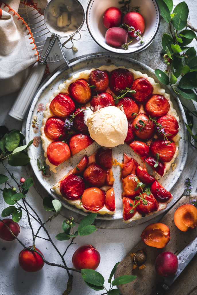
[[[73,129],[74,131],[78,132],[78,133],[88,133],[88,127],[85,124],[84,121],[84,114],[85,113],[84,110],[87,110],[88,108],[82,106],[81,109],[76,109],[76,111],[74,112],[74,119],[73,119]],[[82,110],[82,112],[81,112]]]

